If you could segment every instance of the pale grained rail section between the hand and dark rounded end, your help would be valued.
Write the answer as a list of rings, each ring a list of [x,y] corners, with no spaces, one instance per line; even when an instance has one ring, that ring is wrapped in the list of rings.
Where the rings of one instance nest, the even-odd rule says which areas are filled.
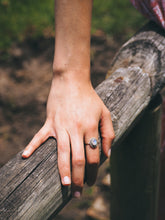
[[[96,90],[111,111],[116,144],[148,105],[150,79],[139,67],[119,68]]]

